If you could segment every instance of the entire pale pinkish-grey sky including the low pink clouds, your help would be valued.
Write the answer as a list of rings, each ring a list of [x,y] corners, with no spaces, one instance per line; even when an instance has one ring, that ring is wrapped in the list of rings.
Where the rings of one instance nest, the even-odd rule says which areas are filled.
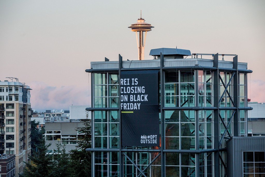
[[[237,54],[253,73],[248,98],[265,102],[265,1],[0,1],[0,80],[29,85],[35,110],[90,105],[92,61],[137,60],[130,24],[152,24],[155,48]],[[221,58],[220,58],[221,59]],[[232,58],[224,58],[232,61]]]

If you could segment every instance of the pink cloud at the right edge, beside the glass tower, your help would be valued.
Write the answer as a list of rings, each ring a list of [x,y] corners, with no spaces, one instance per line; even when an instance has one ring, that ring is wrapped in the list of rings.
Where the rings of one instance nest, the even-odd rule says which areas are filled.
[[[251,102],[265,102],[265,81],[251,80],[248,82],[248,98]]]

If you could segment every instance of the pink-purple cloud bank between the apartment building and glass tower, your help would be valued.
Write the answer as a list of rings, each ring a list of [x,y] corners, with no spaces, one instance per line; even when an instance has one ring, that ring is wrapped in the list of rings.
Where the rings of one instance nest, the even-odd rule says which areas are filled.
[[[69,110],[70,105],[89,105],[90,103],[90,90],[84,86],[53,87],[37,81],[28,85],[33,89],[30,92],[30,102],[35,110]]]

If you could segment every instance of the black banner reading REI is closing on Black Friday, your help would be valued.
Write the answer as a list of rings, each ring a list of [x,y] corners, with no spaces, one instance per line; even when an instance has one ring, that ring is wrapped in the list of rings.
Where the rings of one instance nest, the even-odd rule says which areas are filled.
[[[122,146],[159,146],[158,71],[121,72]]]

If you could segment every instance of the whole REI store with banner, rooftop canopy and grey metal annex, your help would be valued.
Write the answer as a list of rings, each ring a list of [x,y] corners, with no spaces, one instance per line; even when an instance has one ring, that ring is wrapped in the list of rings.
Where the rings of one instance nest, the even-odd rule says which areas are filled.
[[[86,70],[92,176],[265,175],[264,138],[246,131],[247,63],[184,49],[150,55]]]

